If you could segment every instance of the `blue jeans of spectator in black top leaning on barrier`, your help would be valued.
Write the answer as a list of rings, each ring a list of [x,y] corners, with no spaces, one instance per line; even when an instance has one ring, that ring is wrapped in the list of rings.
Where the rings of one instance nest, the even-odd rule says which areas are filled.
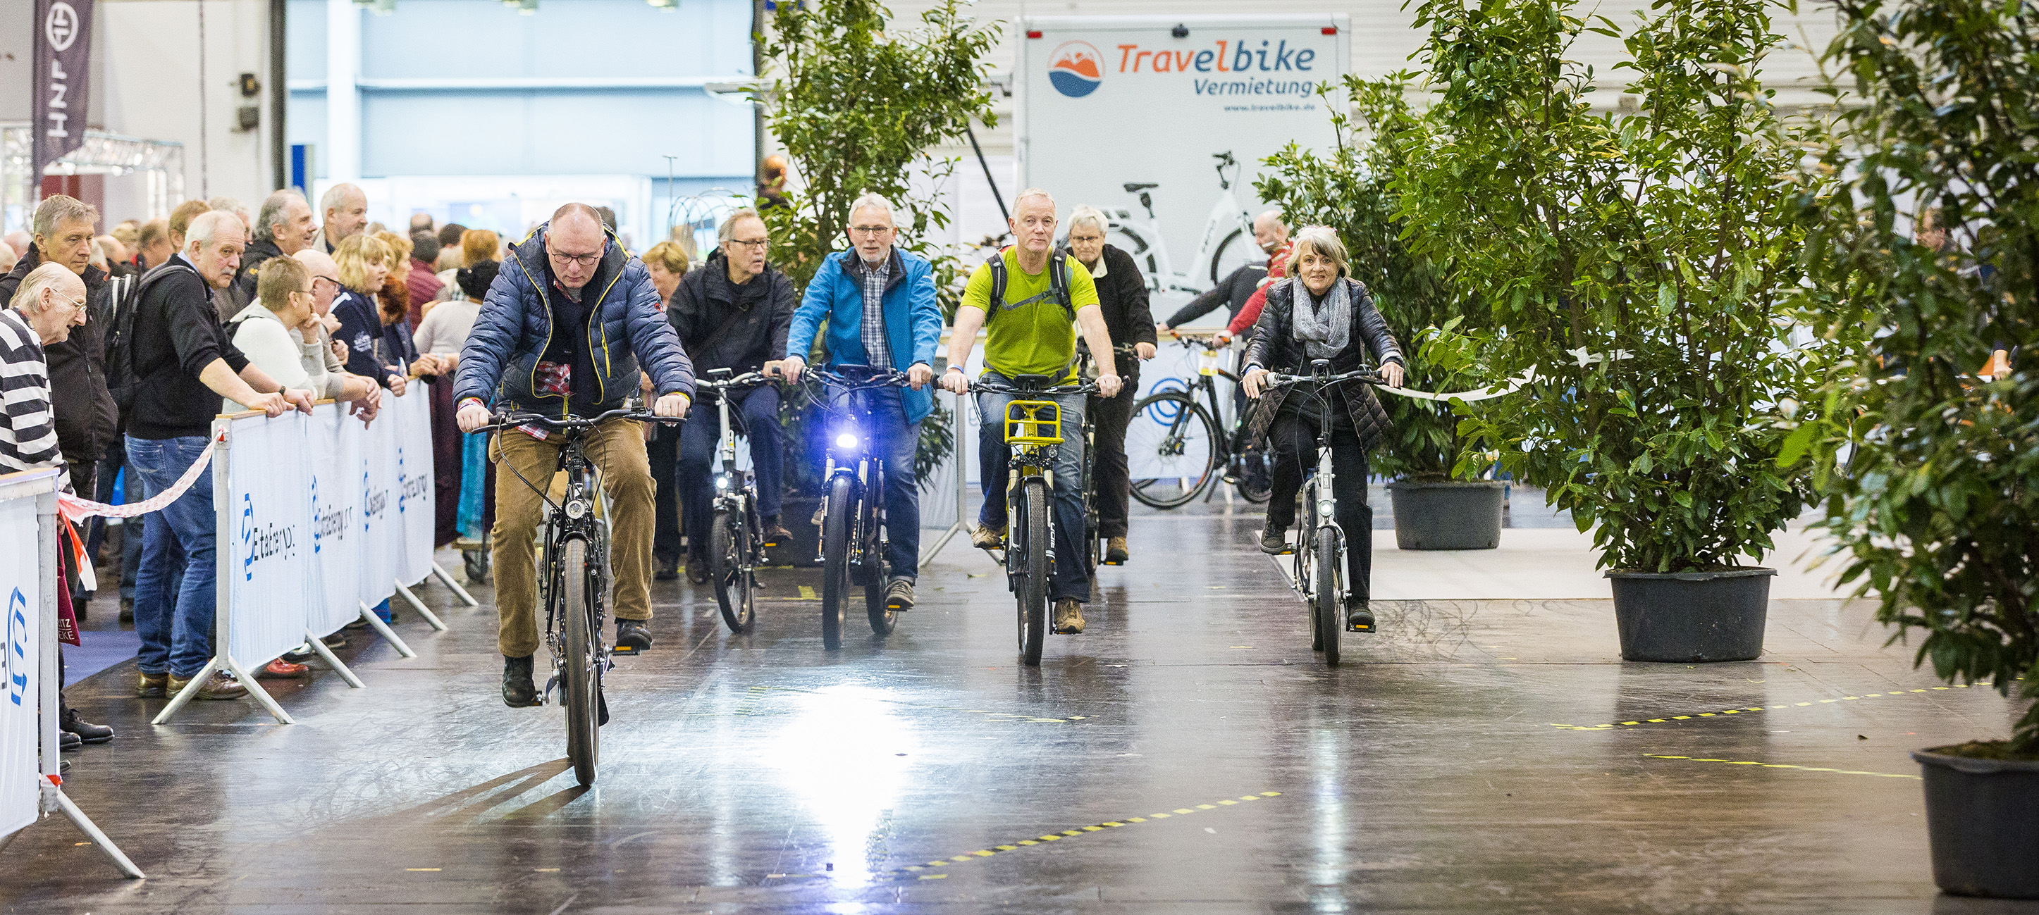
[[[198,461],[206,438],[128,438],[126,448],[143,497],[155,497]],[[200,473],[192,489],[163,505],[143,534],[135,634],[141,636],[137,660],[147,675],[167,670],[188,679],[212,660],[214,524],[212,473]]]

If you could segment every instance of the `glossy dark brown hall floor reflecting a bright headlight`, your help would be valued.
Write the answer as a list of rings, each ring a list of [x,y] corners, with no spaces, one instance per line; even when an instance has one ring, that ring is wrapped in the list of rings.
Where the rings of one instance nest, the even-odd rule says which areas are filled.
[[[0,852],[6,913],[1966,913],[1937,897],[1906,752],[2002,736],[1868,605],[1776,601],[1745,664],[1623,664],[1607,601],[1395,601],[1346,664],[1254,550],[1258,518],[1142,514],[1089,632],[1015,662],[995,567],[950,546],[889,640],[824,652],[818,577],[752,636],[655,589],[581,791],[557,707],[498,699],[493,611],[442,609],[369,689],[269,683],[300,723],[133,664],[71,701],[120,730],[61,819]],[[1376,554],[1391,567],[1393,550]],[[445,564],[457,567],[457,560]],[[424,595],[453,607],[445,589]],[[487,599],[487,591],[479,595]],[[1760,711],[1754,711],[1758,709]],[[1678,717],[1690,715],[1690,717]],[[1711,717],[1709,717],[1711,715]],[[1652,723],[1650,719],[1666,719]],[[1621,721],[1641,721],[1623,725]],[[1607,728],[1611,725],[1611,728]]]

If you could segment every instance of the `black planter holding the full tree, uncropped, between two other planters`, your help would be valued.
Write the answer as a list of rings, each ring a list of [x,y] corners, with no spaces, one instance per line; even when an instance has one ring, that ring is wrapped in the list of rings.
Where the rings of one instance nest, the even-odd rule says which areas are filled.
[[[1754,660],[1776,569],[1607,573],[1623,660]]]

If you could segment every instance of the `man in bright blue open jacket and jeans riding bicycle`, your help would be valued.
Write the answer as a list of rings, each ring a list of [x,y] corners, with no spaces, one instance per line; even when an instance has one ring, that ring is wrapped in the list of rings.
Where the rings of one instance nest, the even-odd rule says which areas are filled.
[[[942,342],[942,306],[934,300],[934,267],[926,259],[893,247],[893,206],[877,194],[850,204],[850,249],[828,255],[807,281],[807,293],[793,310],[785,340],[785,361],[765,367],[799,381],[807,351],[822,320],[828,320],[830,367],[869,365],[907,373],[913,387],[887,387],[877,397],[879,428],[869,430],[885,456],[885,558],[891,581],[885,605],[913,607],[920,579],[920,477],[913,452],[920,448],[920,420],[934,410],[934,351]]]

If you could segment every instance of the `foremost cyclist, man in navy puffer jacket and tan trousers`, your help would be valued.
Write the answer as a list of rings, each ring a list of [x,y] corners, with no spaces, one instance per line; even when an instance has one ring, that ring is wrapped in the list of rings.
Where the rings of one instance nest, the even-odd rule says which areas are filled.
[[[693,367],[679,334],[659,312],[659,289],[644,263],[632,259],[587,204],[567,204],[495,273],[475,330],[461,348],[453,397],[461,432],[489,422],[489,410],[597,416],[622,408],[642,373],[659,393],[652,412],[685,416]],[[532,654],[538,650],[538,575],[532,536],[544,505],[544,485],[559,469],[559,438],[526,430],[502,432],[491,461],[516,473],[500,475],[495,528],[495,644],[504,652],[504,703],[536,705]],[[650,648],[652,481],[644,434],[632,420],[595,428],[587,456],[616,512],[610,558],[616,567],[616,652]]]

